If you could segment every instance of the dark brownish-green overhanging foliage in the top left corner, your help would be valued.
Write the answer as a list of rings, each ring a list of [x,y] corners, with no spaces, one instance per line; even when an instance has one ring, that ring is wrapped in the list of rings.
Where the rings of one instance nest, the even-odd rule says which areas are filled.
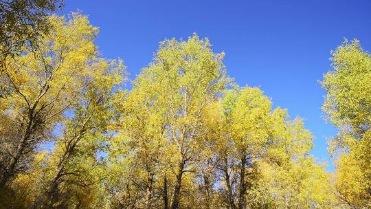
[[[25,43],[37,41],[50,30],[47,12],[62,7],[63,1],[59,0],[0,1],[0,72],[6,58],[18,54]]]

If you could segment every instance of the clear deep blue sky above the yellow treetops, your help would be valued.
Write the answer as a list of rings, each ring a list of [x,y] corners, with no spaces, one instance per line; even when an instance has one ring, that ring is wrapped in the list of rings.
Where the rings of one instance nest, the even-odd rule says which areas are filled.
[[[226,53],[229,76],[259,86],[275,107],[306,119],[315,136],[311,153],[329,162],[323,120],[330,50],[344,37],[371,51],[371,1],[92,1],[65,0],[63,13],[82,10],[100,28],[102,56],[120,57],[131,78],[150,63],[159,41],[196,32]]]

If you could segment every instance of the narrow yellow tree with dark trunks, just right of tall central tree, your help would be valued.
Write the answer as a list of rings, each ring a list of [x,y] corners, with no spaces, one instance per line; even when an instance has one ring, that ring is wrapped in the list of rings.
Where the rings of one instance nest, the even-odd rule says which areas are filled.
[[[256,159],[263,157],[271,135],[271,101],[258,88],[229,90],[222,101],[225,133],[221,166],[230,208],[246,208],[246,192]]]

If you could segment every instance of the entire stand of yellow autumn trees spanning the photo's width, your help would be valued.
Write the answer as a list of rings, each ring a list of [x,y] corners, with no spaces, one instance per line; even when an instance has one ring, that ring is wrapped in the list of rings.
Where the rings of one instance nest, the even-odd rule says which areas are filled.
[[[371,57],[358,41],[322,82],[340,130],[332,174],[308,154],[304,120],[234,83],[207,39],[161,42],[127,89],[87,17],[47,23],[1,69],[0,208],[371,207]]]

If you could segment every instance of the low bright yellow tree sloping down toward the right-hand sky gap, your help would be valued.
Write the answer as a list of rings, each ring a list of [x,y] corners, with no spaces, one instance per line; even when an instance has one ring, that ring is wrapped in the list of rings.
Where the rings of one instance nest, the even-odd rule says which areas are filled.
[[[249,191],[256,208],[333,208],[330,173],[308,155],[313,136],[301,118],[289,120],[286,110],[272,114],[272,135],[258,179]]]

